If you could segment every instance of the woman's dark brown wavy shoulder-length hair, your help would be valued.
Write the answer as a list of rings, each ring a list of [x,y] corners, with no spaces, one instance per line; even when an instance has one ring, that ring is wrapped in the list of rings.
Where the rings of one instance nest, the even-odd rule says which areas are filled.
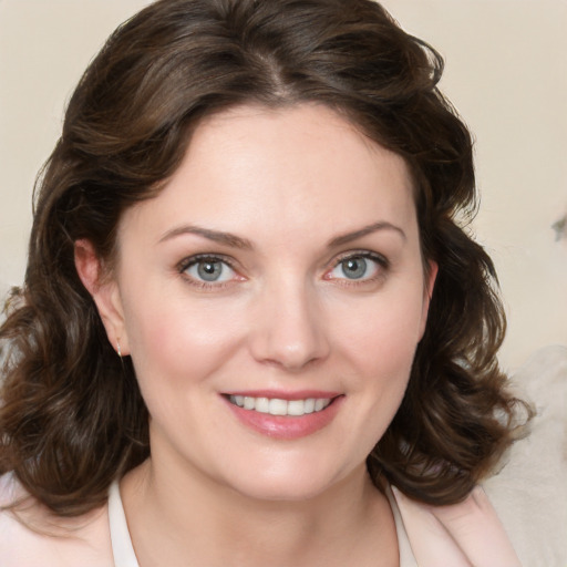
[[[0,471],[59,515],[101,505],[150,454],[130,359],[109,343],[73,260],[112,266],[123,212],[178,167],[204,116],[324,104],[403,156],[423,257],[439,264],[427,327],[394,420],[368,458],[409,496],[449,504],[515,435],[496,351],[493,262],[466,230],[472,138],[437,90],[441,56],[370,0],[161,0],[122,24],[81,79],[37,182],[24,286],[0,329]]]

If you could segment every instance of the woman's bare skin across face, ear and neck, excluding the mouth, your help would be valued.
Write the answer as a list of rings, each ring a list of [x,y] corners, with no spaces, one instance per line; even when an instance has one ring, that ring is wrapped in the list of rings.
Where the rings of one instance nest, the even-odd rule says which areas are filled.
[[[152,457],[121,485],[141,566],[396,565],[365,457],[436,272],[403,159],[324,106],[238,107],[197,127],[118,228],[111,277],[90,243],[75,258],[152,415]],[[219,280],[195,255],[217,258]],[[255,431],[224,394],[260,389],[337,393],[333,417],[298,439]]]

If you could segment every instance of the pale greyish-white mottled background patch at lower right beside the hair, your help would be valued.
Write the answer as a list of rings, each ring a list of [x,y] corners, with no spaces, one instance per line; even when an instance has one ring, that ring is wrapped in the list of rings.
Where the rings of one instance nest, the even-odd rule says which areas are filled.
[[[525,565],[567,565],[567,347],[536,352],[512,379],[536,415],[486,493]]]

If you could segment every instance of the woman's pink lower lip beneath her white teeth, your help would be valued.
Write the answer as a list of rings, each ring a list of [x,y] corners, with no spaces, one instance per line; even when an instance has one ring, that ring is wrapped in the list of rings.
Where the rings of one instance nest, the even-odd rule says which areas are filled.
[[[271,415],[270,413],[245,410],[230,403],[226,398],[223,399],[234,415],[254,431],[268,437],[295,440],[311,435],[329,425],[337,415],[344,396],[334,398],[324,410],[300,416]]]

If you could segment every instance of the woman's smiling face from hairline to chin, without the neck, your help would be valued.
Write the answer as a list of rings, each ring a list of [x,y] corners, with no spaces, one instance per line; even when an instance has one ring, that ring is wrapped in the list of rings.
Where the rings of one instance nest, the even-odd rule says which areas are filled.
[[[281,499],[363,474],[433,277],[398,155],[322,106],[205,121],[164,190],[124,214],[109,284],[153,466]]]

